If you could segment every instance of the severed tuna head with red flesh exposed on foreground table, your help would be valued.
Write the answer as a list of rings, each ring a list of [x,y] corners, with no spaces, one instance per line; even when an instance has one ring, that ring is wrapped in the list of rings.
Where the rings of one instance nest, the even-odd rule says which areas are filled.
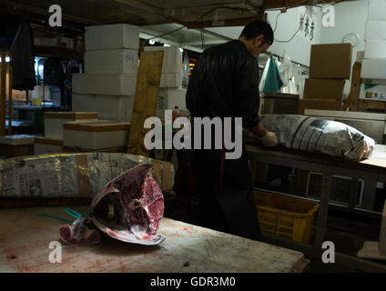
[[[151,164],[142,164],[112,180],[94,197],[90,215],[96,227],[108,236],[140,245],[157,245],[164,214],[164,196],[156,180],[147,176]]]

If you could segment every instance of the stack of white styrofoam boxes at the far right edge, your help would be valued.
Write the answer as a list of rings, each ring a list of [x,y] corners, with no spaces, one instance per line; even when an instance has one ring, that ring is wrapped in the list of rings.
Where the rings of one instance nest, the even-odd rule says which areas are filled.
[[[386,101],[386,85],[374,85],[373,81],[366,80],[386,80],[386,0],[369,0],[364,38],[366,46],[361,66],[364,80],[360,98]]]

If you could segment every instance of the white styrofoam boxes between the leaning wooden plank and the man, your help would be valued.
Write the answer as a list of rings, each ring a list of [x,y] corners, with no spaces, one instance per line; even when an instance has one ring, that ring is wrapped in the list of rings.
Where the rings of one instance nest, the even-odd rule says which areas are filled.
[[[157,117],[162,120],[165,110],[186,110],[187,89],[182,86],[182,53],[177,46],[146,46],[145,51],[164,51],[161,83],[159,85]]]

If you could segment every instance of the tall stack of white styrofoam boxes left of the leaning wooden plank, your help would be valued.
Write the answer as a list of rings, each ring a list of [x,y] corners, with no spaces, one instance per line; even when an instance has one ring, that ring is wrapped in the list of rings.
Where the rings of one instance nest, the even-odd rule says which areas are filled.
[[[100,119],[131,121],[138,50],[137,26],[87,26],[86,73],[73,75],[73,110],[96,111]]]

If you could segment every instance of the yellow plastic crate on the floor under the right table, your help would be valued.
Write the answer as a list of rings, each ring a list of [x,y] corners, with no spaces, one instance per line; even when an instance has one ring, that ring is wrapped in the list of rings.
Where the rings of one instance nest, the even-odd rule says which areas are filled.
[[[303,244],[310,242],[312,222],[319,208],[318,203],[259,190],[254,192],[261,231]]]

